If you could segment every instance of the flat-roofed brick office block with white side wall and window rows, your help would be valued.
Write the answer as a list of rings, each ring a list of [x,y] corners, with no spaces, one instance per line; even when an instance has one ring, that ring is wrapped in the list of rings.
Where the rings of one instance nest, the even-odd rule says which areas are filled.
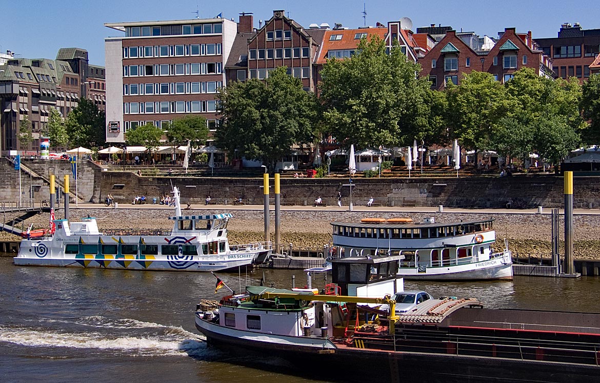
[[[146,123],[166,127],[188,113],[218,127],[217,90],[226,85],[225,62],[237,24],[191,19],[106,23],[122,33],[107,37],[107,142],[125,142],[125,132]]]

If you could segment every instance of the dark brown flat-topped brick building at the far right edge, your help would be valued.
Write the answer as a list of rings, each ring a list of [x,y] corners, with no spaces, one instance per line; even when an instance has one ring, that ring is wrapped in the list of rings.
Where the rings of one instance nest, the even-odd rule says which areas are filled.
[[[564,23],[558,37],[535,41],[552,58],[554,77],[577,77],[580,83],[590,76],[590,65],[600,53],[600,29],[583,29],[579,23]]]

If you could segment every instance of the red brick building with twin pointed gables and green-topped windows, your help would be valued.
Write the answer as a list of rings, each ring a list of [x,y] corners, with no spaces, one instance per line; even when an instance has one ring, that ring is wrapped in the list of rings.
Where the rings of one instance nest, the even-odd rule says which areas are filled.
[[[493,74],[506,82],[523,67],[533,68],[539,76],[551,75],[551,60],[532,40],[531,32],[518,34],[506,28],[490,50],[474,50],[456,31],[447,31],[421,62],[421,76],[431,80],[431,88],[441,90],[446,83],[458,85],[461,75],[473,70]],[[468,40],[467,40],[468,41]]]

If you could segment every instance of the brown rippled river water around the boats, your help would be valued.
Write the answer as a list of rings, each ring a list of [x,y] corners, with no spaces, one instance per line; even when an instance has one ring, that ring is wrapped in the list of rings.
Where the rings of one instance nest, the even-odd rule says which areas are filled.
[[[289,288],[300,270],[259,270],[240,284]],[[476,297],[487,307],[600,312],[596,278],[516,277],[513,282],[405,282],[437,297]],[[315,277],[313,287],[323,287]],[[194,328],[195,304],[215,299],[206,273],[17,267],[0,258],[0,382],[319,382],[288,376],[286,362],[231,357],[207,348]],[[260,366],[260,368],[254,367]],[[310,367],[308,367],[310,368]],[[310,376],[310,373],[307,374]]]

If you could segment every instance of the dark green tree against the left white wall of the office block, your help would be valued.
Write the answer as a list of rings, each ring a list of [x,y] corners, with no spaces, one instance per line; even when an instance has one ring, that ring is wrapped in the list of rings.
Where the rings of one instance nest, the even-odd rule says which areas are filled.
[[[77,121],[76,136],[69,135],[71,143],[83,140],[86,146],[102,146],[106,143],[106,116],[93,101],[80,98],[79,103],[67,116]],[[76,126],[76,125],[74,125]],[[79,145],[79,146],[85,146]]]

